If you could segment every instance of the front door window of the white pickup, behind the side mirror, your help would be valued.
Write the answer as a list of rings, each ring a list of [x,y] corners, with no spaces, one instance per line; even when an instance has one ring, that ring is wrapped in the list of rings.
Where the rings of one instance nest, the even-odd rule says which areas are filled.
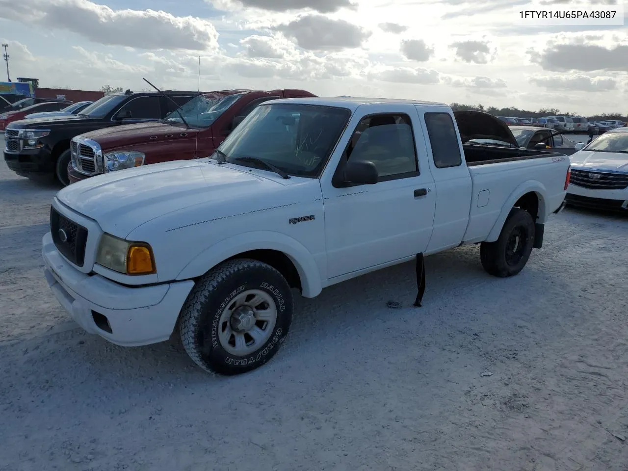
[[[371,161],[379,181],[419,175],[412,123],[407,114],[367,116],[345,151],[348,161]]]

